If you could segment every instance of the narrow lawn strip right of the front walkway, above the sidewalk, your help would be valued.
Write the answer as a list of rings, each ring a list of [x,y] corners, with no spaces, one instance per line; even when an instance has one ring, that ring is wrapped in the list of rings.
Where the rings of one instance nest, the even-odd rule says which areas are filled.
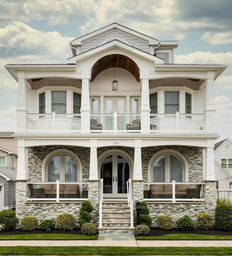
[[[167,234],[162,236],[137,236],[137,240],[232,240],[232,236]]]

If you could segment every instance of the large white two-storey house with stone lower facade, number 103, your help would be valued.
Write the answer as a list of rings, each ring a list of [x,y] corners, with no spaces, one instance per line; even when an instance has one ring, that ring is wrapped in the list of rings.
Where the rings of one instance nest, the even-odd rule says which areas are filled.
[[[116,23],[69,43],[67,64],[5,66],[18,82],[17,216],[77,219],[86,198],[99,230],[131,231],[136,200],[153,220],[214,215],[214,81],[227,66],[175,64],[177,41]]]

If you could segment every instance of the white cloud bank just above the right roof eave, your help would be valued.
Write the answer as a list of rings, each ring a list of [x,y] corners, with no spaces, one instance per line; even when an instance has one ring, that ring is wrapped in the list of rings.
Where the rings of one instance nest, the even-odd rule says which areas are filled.
[[[232,64],[232,52],[194,52],[175,56],[176,64]]]

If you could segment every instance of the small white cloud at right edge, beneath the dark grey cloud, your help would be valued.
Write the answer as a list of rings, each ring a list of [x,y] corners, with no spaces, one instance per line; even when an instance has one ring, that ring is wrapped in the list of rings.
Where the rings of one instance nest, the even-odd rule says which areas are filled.
[[[232,31],[223,33],[206,32],[201,38],[211,45],[232,44]]]

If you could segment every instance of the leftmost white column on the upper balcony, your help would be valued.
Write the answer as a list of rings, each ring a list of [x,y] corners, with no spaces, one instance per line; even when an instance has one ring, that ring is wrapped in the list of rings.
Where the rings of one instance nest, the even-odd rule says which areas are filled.
[[[16,132],[26,132],[26,80],[24,71],[18,71],[18,99],[16,112]]]

